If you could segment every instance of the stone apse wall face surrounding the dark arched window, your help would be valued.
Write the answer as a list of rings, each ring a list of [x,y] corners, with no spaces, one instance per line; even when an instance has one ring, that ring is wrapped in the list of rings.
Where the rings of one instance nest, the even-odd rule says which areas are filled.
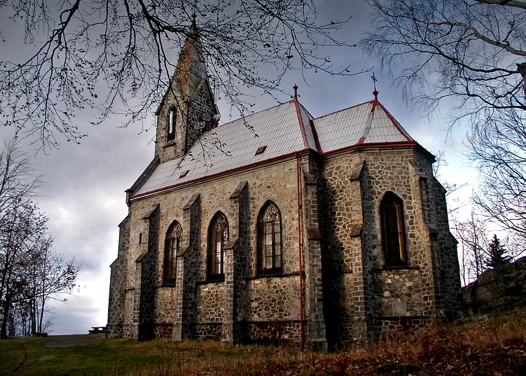
[[[411,149],[372,151],[365,155],[368,185],[364,187],[365,269],[370,271],[365,290],[370,294],[371,318],[430,316],[435,301],[433,261],[424,229],[419,176],[412,168]],[[408,267],[386,272],[381,245],[379,206],[386,192],[403,200]]]

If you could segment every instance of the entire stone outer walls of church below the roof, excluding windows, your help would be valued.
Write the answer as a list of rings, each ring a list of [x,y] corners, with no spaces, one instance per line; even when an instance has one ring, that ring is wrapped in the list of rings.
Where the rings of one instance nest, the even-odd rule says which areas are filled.
[[[411,148],[317,158],[305,154],[132,200],[129,230],[121,234],[125,254],[114,263],[121,265],[120,282],[111,290],[124,306],[111,312],[120,317],[113,320],[122,322],[123,335],[154,333],[228,344],[299,341],[304,326],[307,341],[323,348],[325,339],[329,345],[362,341],[382,330],[425,325],[442,311],[455,310],[451,295],[460,279],[454,239],[444,191],[428,175],[430,160]],[[403,200],[406,267],[386,267],[383,261],[379,205],[388,191]],[[260,275],[257,218],[269,201],[280,210],[283,270]],[[208,281],[208,229],[217,212],[229,225],[225,280]],[[183,244],[176,283],[165,285],[164,239],[174,220],[183,229]],[[440,272],[444,267],[449,270]]]

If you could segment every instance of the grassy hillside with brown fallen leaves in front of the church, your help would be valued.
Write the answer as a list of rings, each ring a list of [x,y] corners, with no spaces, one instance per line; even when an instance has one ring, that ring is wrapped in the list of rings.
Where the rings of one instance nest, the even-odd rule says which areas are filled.
[[[0,375],[526,375],[526,310],[338,353],[102,335],[0,341]]]

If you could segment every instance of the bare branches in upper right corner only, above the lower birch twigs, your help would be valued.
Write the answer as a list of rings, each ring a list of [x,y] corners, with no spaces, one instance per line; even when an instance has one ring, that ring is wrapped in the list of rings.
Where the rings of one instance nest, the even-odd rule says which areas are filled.
[[[442,100],[453,99],[461,110],[458,116],[476,116],[484,109],[526,109],[518,68],[526,62],[525,2],[371,3],[374,32],[361,45],[397,74],[408,100],[434,110]]]

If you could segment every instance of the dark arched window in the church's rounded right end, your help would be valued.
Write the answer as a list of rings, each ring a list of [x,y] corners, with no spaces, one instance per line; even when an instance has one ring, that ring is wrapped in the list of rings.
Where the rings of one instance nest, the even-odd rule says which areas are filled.
[[[406,229],[403,225],[403,202],[387,192],[380,203],[382,246],[386,266],[407,265]]]

